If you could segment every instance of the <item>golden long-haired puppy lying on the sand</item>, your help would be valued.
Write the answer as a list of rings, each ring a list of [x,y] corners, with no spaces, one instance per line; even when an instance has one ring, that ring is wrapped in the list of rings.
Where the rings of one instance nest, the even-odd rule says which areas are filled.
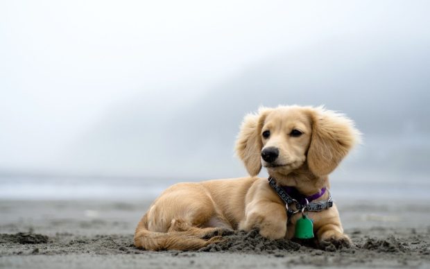
[[[248,114],[236,141],[236,154],[250,177],[179,183],[166,189],[141,218],[135,246],[146,250],[196,250],[222,240],[232,229],[259,229],[270,239],[293,238],[302,214],[286,204],[261,167],[279,187],[299,195],[329,199],[328,175],[359,141],[354,123],[322,107],[279,106]],[[297,213],[297,212],[296,212]],[[349,247],[336,205],[309,211],[320,248]],[[287,216],[289,215],[289,216]],[[287,219],[288,218],[288,219]]]

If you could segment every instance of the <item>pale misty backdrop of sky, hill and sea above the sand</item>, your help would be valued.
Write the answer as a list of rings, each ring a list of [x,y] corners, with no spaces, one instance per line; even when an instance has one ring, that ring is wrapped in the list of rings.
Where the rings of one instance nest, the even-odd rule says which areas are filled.
[[[429,8],[1,1],[0,198],[153,197],[244,176],[243,116],[298,104],[363,132],[336,196],[428,199]]]

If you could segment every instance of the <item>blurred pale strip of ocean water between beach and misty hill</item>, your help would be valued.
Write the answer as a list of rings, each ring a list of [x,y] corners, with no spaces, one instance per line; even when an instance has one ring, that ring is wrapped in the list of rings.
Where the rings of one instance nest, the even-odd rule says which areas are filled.
[[[354,176],[352,176],[354,175]],[[178,182],[198,179],[139,177],[2,176],[2,200],[152,200]],[[331,192],[335,199],[430,200],[430,180],[424,176],[334,173]]]

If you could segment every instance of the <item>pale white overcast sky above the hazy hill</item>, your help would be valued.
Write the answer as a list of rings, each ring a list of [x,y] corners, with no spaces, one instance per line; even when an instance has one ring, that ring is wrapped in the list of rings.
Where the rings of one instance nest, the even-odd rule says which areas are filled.
[[[391,0],[1,1],[0,169],[49,170],[112,107],[144,94],[146,105],[174,114],[259,62],[304,47],[402,40],[410,52],[429,44],[429,7]]]

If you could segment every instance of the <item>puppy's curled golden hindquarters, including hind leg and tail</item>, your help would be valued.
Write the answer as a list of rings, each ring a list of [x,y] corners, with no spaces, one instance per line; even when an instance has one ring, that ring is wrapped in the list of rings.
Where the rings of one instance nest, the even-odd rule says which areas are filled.
[[[182,183],[167,189],[151,205],[135,233],[135,245],[149,250],[197,250],[221,241],[225,229],[207,226],[221,216],[200,184]]]

